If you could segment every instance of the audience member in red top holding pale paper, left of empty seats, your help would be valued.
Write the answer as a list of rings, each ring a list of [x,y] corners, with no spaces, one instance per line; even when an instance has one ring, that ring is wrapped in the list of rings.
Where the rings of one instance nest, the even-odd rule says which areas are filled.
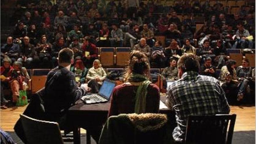
[[[93,61],[98,58],[98,49],[90,42],[90,37],[86,36],[83,39],[82,45],[83,63],[87,68],[93,66]]]

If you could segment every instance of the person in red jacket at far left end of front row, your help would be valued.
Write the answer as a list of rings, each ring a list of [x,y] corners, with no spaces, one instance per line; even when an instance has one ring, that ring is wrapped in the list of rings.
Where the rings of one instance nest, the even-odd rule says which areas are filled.
[[[12,60],[9,57],[3,59],[3,66],[0,67],[1,72],[1,106],[6,104],[7,101],[3,94],[3,89],[10,88],[9,81],[13,67],[11,66]]]

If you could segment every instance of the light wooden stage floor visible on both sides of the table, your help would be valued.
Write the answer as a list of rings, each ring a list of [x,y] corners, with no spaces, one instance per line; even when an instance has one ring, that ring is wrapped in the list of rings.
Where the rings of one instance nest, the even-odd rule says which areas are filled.
[[[230,106],[230,114],[236,113],[237,119],[234,131],[255,130],[255,106]],[[14,131],[13,127],[22,114],[26,106],[1,107],[1,129],[4,131]],[[85,132],[84,130],[81,131]]]

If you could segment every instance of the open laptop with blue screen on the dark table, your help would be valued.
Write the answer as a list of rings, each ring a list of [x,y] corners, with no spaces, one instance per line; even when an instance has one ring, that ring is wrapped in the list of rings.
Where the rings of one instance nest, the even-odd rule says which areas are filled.
[[[99,93],[85,95],[81,98],[81,100],[86,104],[108,102],[114,88],[114,81],[104,80],[99,89]]]

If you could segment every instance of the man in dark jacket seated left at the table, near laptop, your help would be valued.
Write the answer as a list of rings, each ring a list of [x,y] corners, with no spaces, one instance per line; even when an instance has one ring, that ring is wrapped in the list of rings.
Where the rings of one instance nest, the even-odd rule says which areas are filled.
[[[75,75],[70,72],[72,63],[73,51],[62,49],[58,54],[58,66],[48,73],[45,83],[43,101],[47,120],[58,122],[61,129],[66,126],[66,113],[70,106],[88,90],[87,84],[77,87]]]

